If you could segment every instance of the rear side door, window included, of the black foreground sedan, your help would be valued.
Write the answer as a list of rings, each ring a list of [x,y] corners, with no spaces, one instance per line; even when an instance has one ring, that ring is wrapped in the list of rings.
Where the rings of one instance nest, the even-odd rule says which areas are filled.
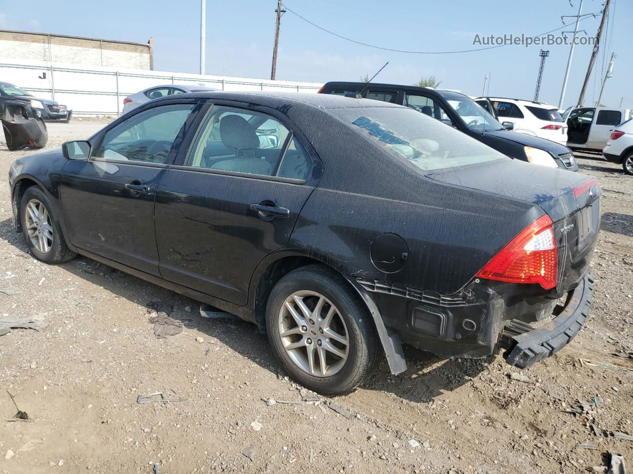
[[[163,278],[244,305],[257,264],[287,244],[319,167],[280,112],[223,104],[161,179],[156,241]]]

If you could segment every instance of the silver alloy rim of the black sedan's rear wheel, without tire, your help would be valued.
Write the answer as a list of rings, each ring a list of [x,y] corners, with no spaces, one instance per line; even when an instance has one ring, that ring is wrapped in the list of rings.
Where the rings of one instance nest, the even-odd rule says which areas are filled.
[[[330,377],[347,362],[348,328],[339,310],[320,293],[292,293],[279,310],[277,324],[285,352],[303,372]]]

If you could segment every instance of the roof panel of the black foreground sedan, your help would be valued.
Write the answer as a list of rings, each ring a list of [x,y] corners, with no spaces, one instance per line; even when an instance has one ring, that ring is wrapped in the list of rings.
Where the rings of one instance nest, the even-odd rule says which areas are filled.
[[[349,109],[354,107],[399,107],[397,104],[382,102],[381,100],[372,99],[353,99],[351,97],[342,97],[341,95],[332,94],[315,94],[310,92],[284,92],[284,91],[211,91],[211,92],[189,92],[187,94],[166,95],[157,101],[178,100],[191,97],[194,99],[224,99],[235,100],[238,102],[249,102],[268,107],[280,107],[288,104],[289,101],[294,102],[299,107],[316,107],[319,109]]]

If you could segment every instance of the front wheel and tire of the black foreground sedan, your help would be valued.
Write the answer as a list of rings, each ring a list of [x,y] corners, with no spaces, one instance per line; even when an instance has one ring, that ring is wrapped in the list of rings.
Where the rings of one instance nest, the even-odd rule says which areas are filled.
[[[36,216],[35,219],[33,216]],[[37,260],[48,264],[61,264],[77,255],[66,245],[56,216],[56,208],[44,191],[37,186],[31,186],[24,191],[20,201],[20,224],[27,246]]]

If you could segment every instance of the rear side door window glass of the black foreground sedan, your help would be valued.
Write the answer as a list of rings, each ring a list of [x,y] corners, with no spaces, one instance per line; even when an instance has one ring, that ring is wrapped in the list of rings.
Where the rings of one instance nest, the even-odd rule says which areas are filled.
[[[268,114],[213,107],[197,134],[188,163],[234,173],[304,179],[310,173],[311,161],[296,139],[280,164],[289,133]]]

